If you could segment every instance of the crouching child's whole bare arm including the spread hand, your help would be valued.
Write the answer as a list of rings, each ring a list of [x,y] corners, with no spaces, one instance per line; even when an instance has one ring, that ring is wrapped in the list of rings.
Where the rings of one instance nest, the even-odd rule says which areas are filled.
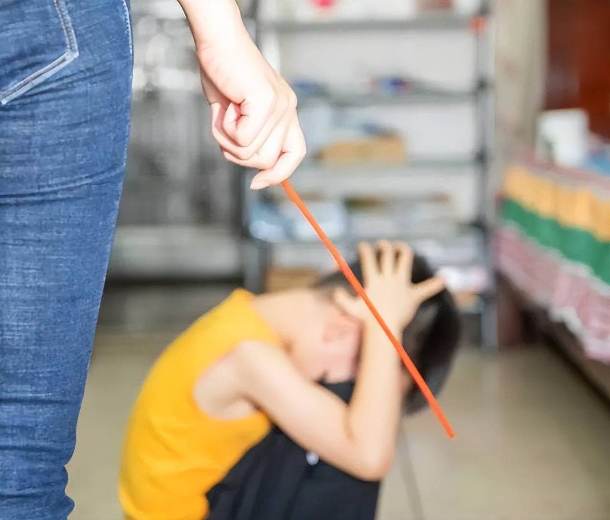
[[[411,251],[389,243],[380,249],[378,265],[370,246],[361,246],[365,287],[392,332],[400,335],[418,305],[439,292],[443,282],[407,285]],[[287,354],[256,342],[243,343],[235,352],[240,386],[298,444],[361,479],[378,480],[392,463],[400,417],[400,361],[361,301],[346,293],[337,294],[337,301],[364,322],[361,364],[349,405],[301,376]]]

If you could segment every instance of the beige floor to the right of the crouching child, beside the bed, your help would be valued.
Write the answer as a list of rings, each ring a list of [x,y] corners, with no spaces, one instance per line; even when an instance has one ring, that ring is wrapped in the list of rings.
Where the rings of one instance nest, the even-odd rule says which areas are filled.
[[[417,520],[610,518],[608,406],[556,353],[463,350],[442,404],[454,440],[430,413],[404,421]]]

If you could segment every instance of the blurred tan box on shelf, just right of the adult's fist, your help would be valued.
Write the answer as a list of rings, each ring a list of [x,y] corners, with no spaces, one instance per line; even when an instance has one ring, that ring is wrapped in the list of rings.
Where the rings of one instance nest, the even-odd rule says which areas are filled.
[[[329,144],[321,149],[319,159],[330,166],[393,164],[405,162],[407,152],[400,137],[382,135]]]

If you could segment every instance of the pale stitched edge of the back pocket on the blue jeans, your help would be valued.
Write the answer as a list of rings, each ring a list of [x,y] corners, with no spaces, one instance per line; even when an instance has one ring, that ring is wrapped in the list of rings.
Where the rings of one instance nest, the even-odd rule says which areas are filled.
[[[53,0],[53,4],[59,15],[59,21],[62,24],[63,35],[66,40],[68,49],[59,58],[53,60],[49,65],[44,66],[38,71],[30,74],[26,79],[18,81],[15,85],[7,90],[0,92],[0,105],[5,105],[17,96],[20,96],[30,88],[43,82],[49,76],[52,76],[57,71],[68,65],[78,56],[78,46],[76,45],[76,36],[72,27],[72,21],[68,10],[66,9],[65,0]]]

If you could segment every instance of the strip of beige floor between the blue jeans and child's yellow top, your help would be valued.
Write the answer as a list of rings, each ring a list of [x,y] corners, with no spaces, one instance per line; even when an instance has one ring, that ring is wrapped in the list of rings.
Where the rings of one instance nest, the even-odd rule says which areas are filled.
[[[68,465],[71,520],[119,520],[118,462],[123,432],[148,369],[173,335],[98,337]]]

